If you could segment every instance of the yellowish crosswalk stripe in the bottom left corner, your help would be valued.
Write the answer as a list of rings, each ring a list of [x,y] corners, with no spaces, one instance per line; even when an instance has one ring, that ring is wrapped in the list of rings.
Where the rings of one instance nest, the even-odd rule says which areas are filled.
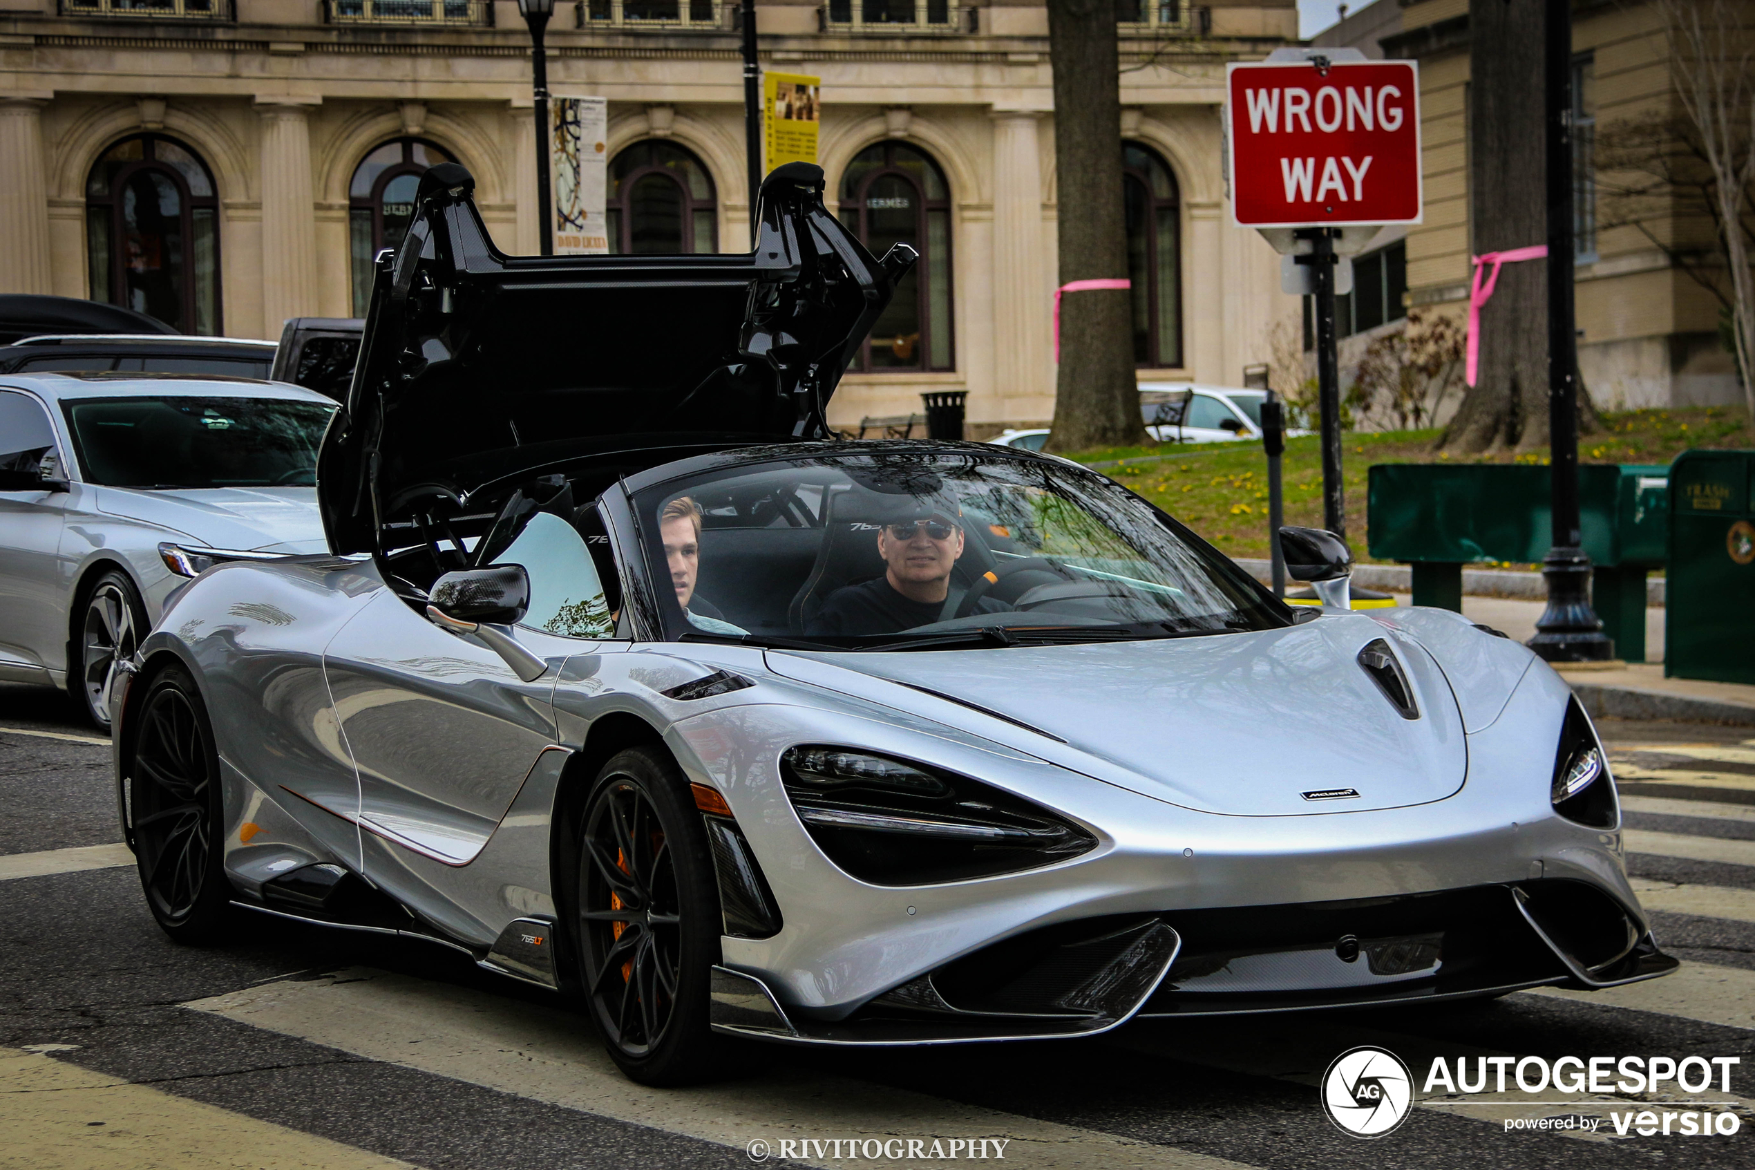
[[[0,1047],[0,1165],[33,1170],[409,1166],[405,1161],[9,1047]]]

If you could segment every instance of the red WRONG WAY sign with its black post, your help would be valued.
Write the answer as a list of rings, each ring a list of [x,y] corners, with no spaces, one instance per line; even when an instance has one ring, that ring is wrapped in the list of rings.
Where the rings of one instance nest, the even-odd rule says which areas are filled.
[[[1225,93],[1232,223],[1262,230],[1304,268],[1285,268],[1288,293],[1314,296],[1323,526],[1344,537],[1334,298],[1351,289],[1343,253],[1383,225],[1420,223],[1418,67],[1358,49],[1276,49],[1227,65]]]

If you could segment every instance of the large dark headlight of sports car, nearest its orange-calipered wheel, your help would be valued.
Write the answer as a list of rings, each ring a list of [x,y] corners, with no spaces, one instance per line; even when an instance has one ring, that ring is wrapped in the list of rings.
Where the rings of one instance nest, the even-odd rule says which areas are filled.
[[[1014,874],[1097,845],[1041,805],[928,765],[800,746],[781,758],[781,775],[811,840],[876,886]]]

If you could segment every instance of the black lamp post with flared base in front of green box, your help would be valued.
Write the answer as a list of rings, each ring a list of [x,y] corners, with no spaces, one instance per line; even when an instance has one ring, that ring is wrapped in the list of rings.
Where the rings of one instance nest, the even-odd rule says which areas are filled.
[[[1548,444],[1553,547],[1548,609],[1529,646],[1548,661],[1604,661],[1615,642],[1590,607],[1590,558],[1578,517],[1578,335],[1572,325],[1572,4],[1544,0],[1543,91],[1548,179]]]

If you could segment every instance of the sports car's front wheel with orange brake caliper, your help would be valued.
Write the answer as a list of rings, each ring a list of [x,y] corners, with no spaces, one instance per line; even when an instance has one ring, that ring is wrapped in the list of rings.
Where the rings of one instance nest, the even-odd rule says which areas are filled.
[[[720,895],[688,781],[662,749],[623,751],[598,772],[577,830],[570,933],[609,1056],[641,1084],[714,1075],[707,982]]]

